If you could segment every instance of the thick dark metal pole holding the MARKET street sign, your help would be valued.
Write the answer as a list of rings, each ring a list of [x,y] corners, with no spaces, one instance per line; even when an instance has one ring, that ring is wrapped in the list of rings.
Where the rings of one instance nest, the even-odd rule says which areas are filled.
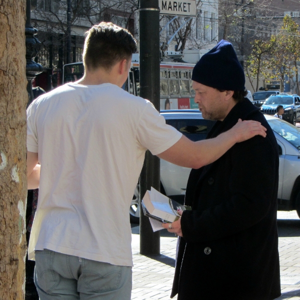
[[[159,111],[159,6],[158,0],[140,0],[139,9],[139,68],[140,96],[150,100]],[[147,189],[160,189],[159,158],[145,154],[140,174],[140,199]],[[141,209],[141,207],[140,207]],[[140,211],[140,253],[159,254],[159,231],[153,232],[149,219]]]

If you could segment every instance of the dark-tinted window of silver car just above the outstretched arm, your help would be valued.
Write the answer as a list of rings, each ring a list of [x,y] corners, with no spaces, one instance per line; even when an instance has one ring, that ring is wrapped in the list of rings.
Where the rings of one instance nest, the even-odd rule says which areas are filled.
[[[166,119],[165,122],[192,141],[205,139],[214,124],[214,121],[205,119]]]

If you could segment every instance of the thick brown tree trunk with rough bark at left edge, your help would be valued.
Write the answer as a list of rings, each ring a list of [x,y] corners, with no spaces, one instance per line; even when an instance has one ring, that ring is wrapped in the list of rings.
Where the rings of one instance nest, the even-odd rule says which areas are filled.
[[[25,2],[0,4],[0,299],[24,298],[26,254]]]

